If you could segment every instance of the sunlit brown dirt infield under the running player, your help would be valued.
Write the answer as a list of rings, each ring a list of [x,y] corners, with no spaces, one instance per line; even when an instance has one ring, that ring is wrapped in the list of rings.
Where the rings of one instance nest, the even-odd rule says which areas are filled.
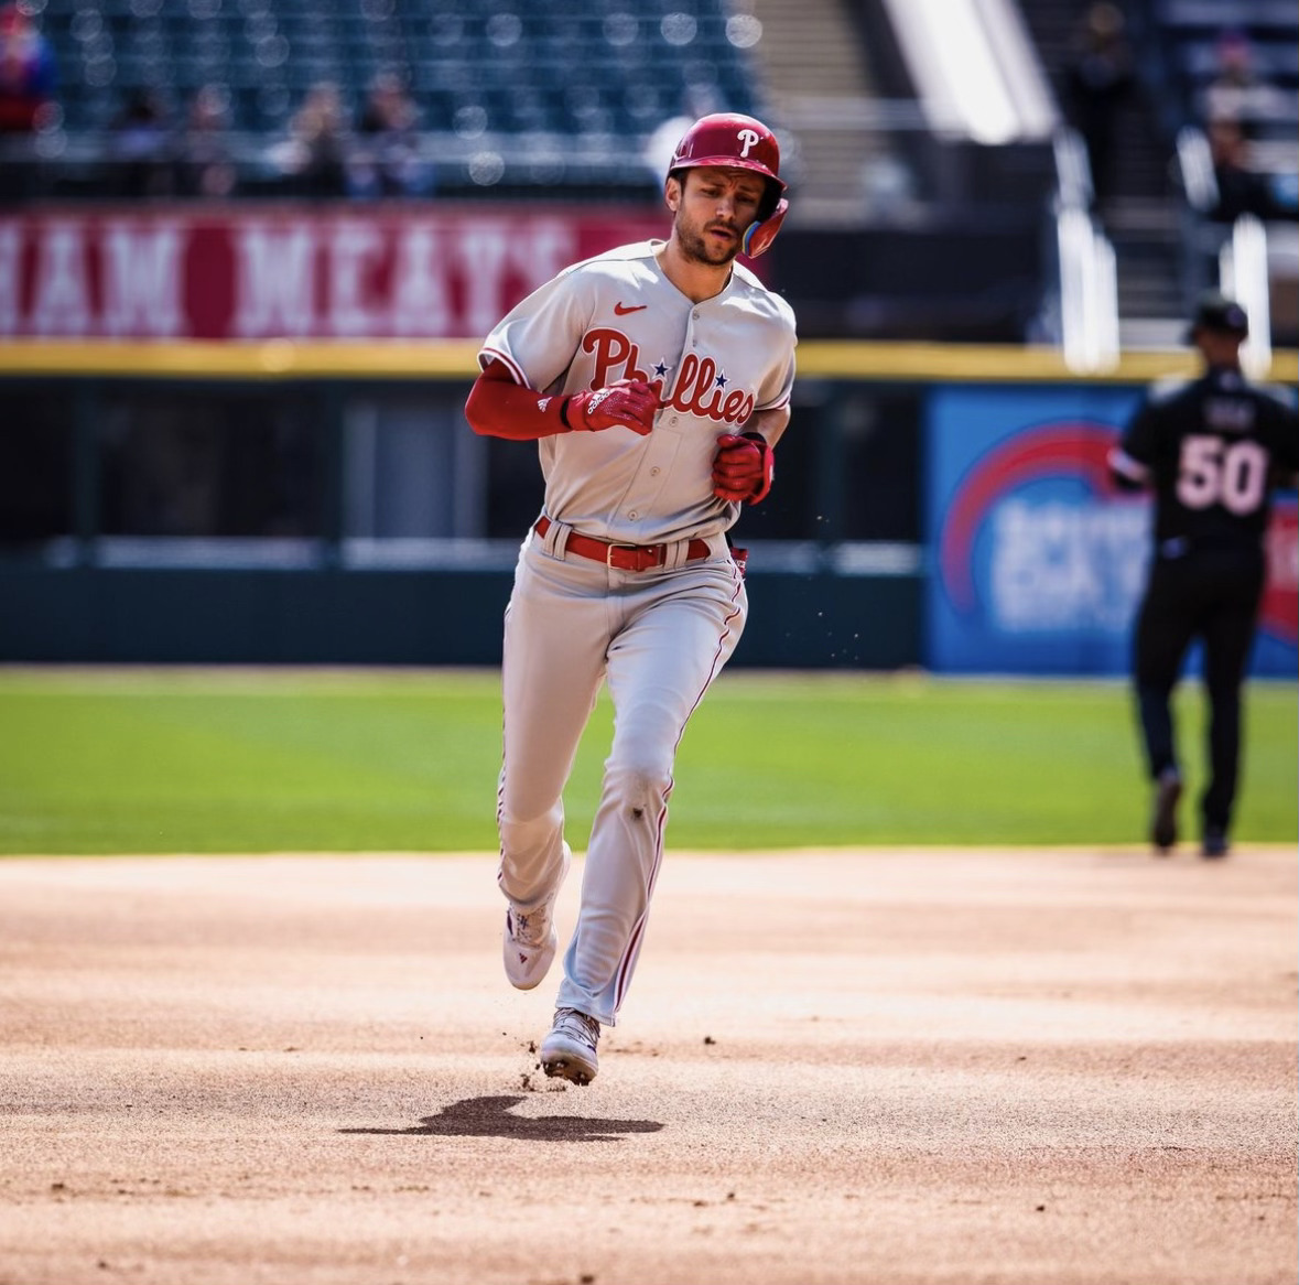
[[[588,1089],[494,873],[0,861],[0,1285],[1296,1280],[1293,850],[669,854]]]

